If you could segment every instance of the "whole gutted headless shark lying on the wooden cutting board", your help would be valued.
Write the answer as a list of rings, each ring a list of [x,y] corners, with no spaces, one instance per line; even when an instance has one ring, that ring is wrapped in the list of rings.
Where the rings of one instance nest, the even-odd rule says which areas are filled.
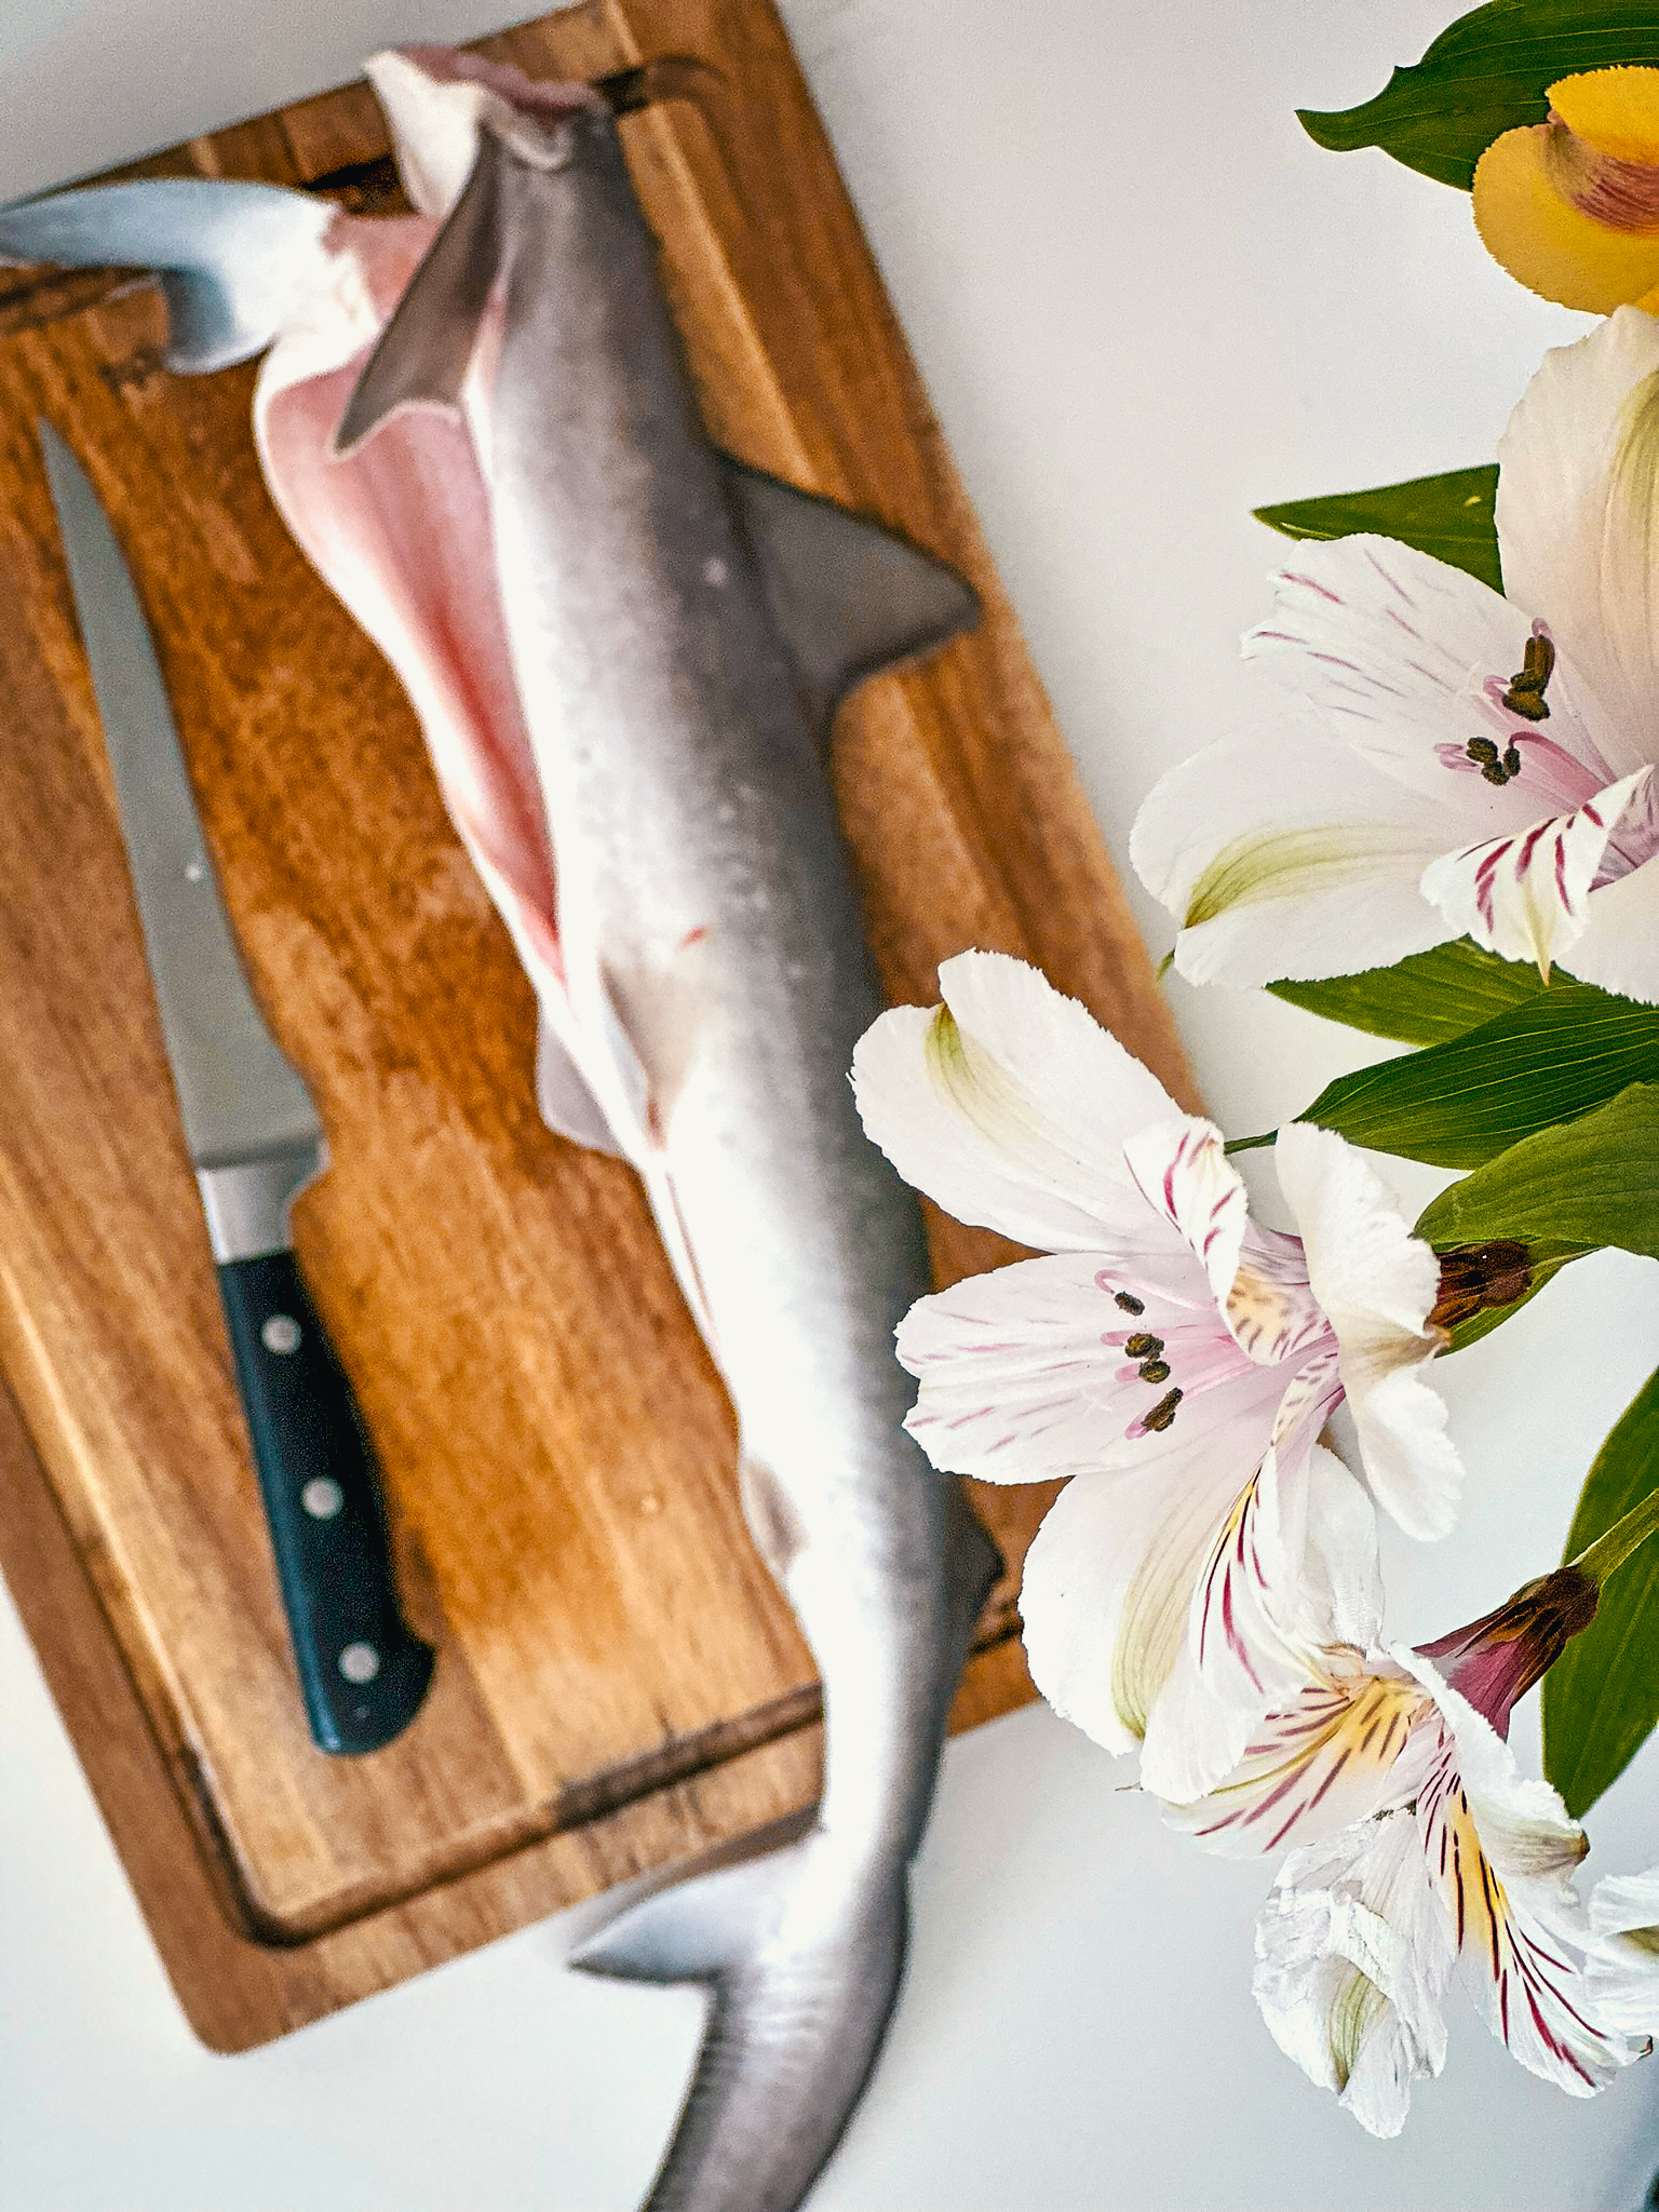
[[[902,1427],[894,1329],[931,1285],[847,1082],[883,998],[830,779],[841,699],[978,602],[710,440],[602,91],[451,49],[367,73],[414,215],[93,186],[0,210],[0,257],[157,272],[177,372],[265,354],[265,480],[420,717],[538,993],[542,1113],[639,1172],[730,1391],[823,1681],[816,1814],[573,1964],[708,1993],[650,2212],[792,2212],[880,2051],[1000,1571]]]

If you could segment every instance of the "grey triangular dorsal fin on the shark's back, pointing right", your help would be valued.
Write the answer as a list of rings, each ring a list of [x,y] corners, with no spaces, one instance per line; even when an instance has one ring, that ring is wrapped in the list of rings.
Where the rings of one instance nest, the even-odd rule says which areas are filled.
[[[854,684],[978,619],[973,586],[909,540],[739,460],[726,473],[772,617],[825,723]]]

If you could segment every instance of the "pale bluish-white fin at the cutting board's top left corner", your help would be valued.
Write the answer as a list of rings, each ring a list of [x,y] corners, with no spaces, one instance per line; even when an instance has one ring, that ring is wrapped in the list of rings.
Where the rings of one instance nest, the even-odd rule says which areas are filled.
[[[142,268],[161,279],[166,365],[186,376],[263,354],[325,281],[338,208],[279,184],[146,177],[0,208],[0,261]]]

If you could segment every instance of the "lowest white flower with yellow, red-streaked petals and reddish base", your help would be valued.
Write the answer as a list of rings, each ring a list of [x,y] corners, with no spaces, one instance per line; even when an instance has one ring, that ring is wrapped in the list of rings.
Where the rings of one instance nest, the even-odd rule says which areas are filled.
[[[1166,1807],[1230,1856],[1298,1845],[1256,1929],[1256,2002],[1371,2135],[1398,2135],[1413,2079],[1444,2064],[1453,1966],[1522,2066],[1575,2097],[1648,2048],[1630,2024],[1659,2011],[1659,1955],[1597,1964],[1584,1829],[1504,1743],[1593,1613],[1595,1584],[1559,1568],[1420,1650],[1332,1641],[1237,1772]]]

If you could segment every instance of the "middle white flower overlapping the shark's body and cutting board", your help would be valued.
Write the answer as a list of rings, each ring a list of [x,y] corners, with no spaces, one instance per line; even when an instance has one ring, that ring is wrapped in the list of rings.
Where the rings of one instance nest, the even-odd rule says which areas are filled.
[[[865,1128],[947,1212],[1048,1256],[911,1307],[909,1429],[942,1469],[1073,1478],[1026,1559],[1033,1677],[1110,1750],[1144,1743],[1148,1787],[1197,1794],[1303,1681],[1310,1531],[1321,1557],[1369,1551],[1369,1502],[1314,1442],[1343,1396],[1383,1504],[1451,1526],[1420,1378],[1436,1259],[1307,1124],[1276,1148],[1301,1237],[1259,1228],[1219,1133],[1024,962],[960,953],[940,991],[858,1044]]]

